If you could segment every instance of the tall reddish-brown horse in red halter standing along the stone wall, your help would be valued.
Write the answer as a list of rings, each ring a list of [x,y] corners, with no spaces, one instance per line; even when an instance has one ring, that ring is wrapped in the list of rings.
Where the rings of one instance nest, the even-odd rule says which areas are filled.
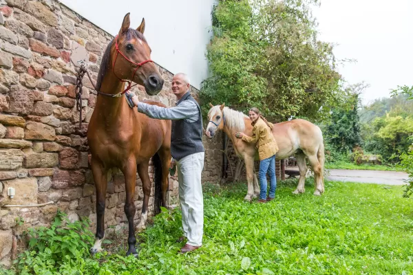
[[[123,97],[130,89],[131,81],[143,85],[148,95],[158,94],[164,81],[156,65],[150,60],[151,50],[143,36],[145,20],[142,20],[136,30],[129,28],[129,23],[128,13],[118,36],[105,50],[96,83],[96,107],[87,130],[96,186],[97,226],[92,254],[102,250],[101,243],[105,236],[107,172],[110,168],[119,168],[125,176],[125,214],[129,223],[127,255],[137,254],[134,228],[136,170],[142,180],[144,193],[142,214],[137,226],[142,229],[145,228],[151,193],[148,173],[151,157],[155,168],[155,188],[162,189],[161,203],[166,206],[168,168],[171,162],[171,121],[148,118],[138,113],[136,108],[131,109]],[[124,89],[125,83],[128,83],[127,89]]]

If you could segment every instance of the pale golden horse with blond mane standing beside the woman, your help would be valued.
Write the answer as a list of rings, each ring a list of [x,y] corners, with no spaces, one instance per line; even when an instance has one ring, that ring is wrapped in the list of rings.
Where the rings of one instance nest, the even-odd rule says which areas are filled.
[[[210,106],[207,136],[212,138],[218,130],[223,130],[229,136],[235,153],[244,159],[248,181],[248,193],[244,199],[251,201],[260,194],[260,187],[253,171],[254,159],[258,157],[257,150],[255,144],[235,138],[235,132],[244,132],[250,136],[253,134],[251,120],[239,111],[224,107],[224,104],[213,106],[210,103]],[[306,157],[308,157],[315,175],[314,195],[321,195],[324,192],[324,143],[319,127],[307,120],[290,120],[274,124],[273,135],[279,147],[277,159],[284,159],[294,153],[297,155],[300,176],[297,189],[293,193],[304,192],[307,173]]]

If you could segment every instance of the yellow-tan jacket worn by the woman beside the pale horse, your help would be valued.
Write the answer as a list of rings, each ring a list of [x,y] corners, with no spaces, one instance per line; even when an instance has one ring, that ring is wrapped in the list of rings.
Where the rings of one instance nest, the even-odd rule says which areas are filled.
[[[270,124],[272,129],[273,124],[271,122],[268,122],[268,124]],[[278,145],[270,127],[268,127],[268,125],[261,118],[258,118],[255,124],[253,123],[253,126],[253,136],[248,137],[248,135],[244,135],[242,140],[256,144],[255,147],[258,148],[260,160],[268,159],[268,157],[275,155],[275,153],[278,152]]]

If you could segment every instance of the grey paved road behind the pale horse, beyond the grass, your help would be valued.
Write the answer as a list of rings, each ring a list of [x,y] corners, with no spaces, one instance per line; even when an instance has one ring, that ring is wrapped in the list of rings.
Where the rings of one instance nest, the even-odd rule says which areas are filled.
[[[288,169],[298,170],[298,167],[288,167]],[[309,171],[308,171],[309,173]],[[330,169],[326,175],[327,179],[335,181],[353,181],[365,184],[388,184],[404,185],[407,173],[396,171],[376,171],[376,170],[345,170]]]

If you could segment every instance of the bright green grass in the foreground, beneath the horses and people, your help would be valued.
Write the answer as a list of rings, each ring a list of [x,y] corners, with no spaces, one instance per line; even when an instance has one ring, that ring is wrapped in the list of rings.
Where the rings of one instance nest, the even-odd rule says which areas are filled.
[[[123,256],[123,235],[117,253],[78,259],[71,274],[413,274],[413,200],[401,186],[326,181],[315,197],[308,185],[293,195],[296,183],[279,184],[265,204],[244,202],[245,184],[206,185],[196,252],[177,254],[174,210],[139,235],[138,259]]]

